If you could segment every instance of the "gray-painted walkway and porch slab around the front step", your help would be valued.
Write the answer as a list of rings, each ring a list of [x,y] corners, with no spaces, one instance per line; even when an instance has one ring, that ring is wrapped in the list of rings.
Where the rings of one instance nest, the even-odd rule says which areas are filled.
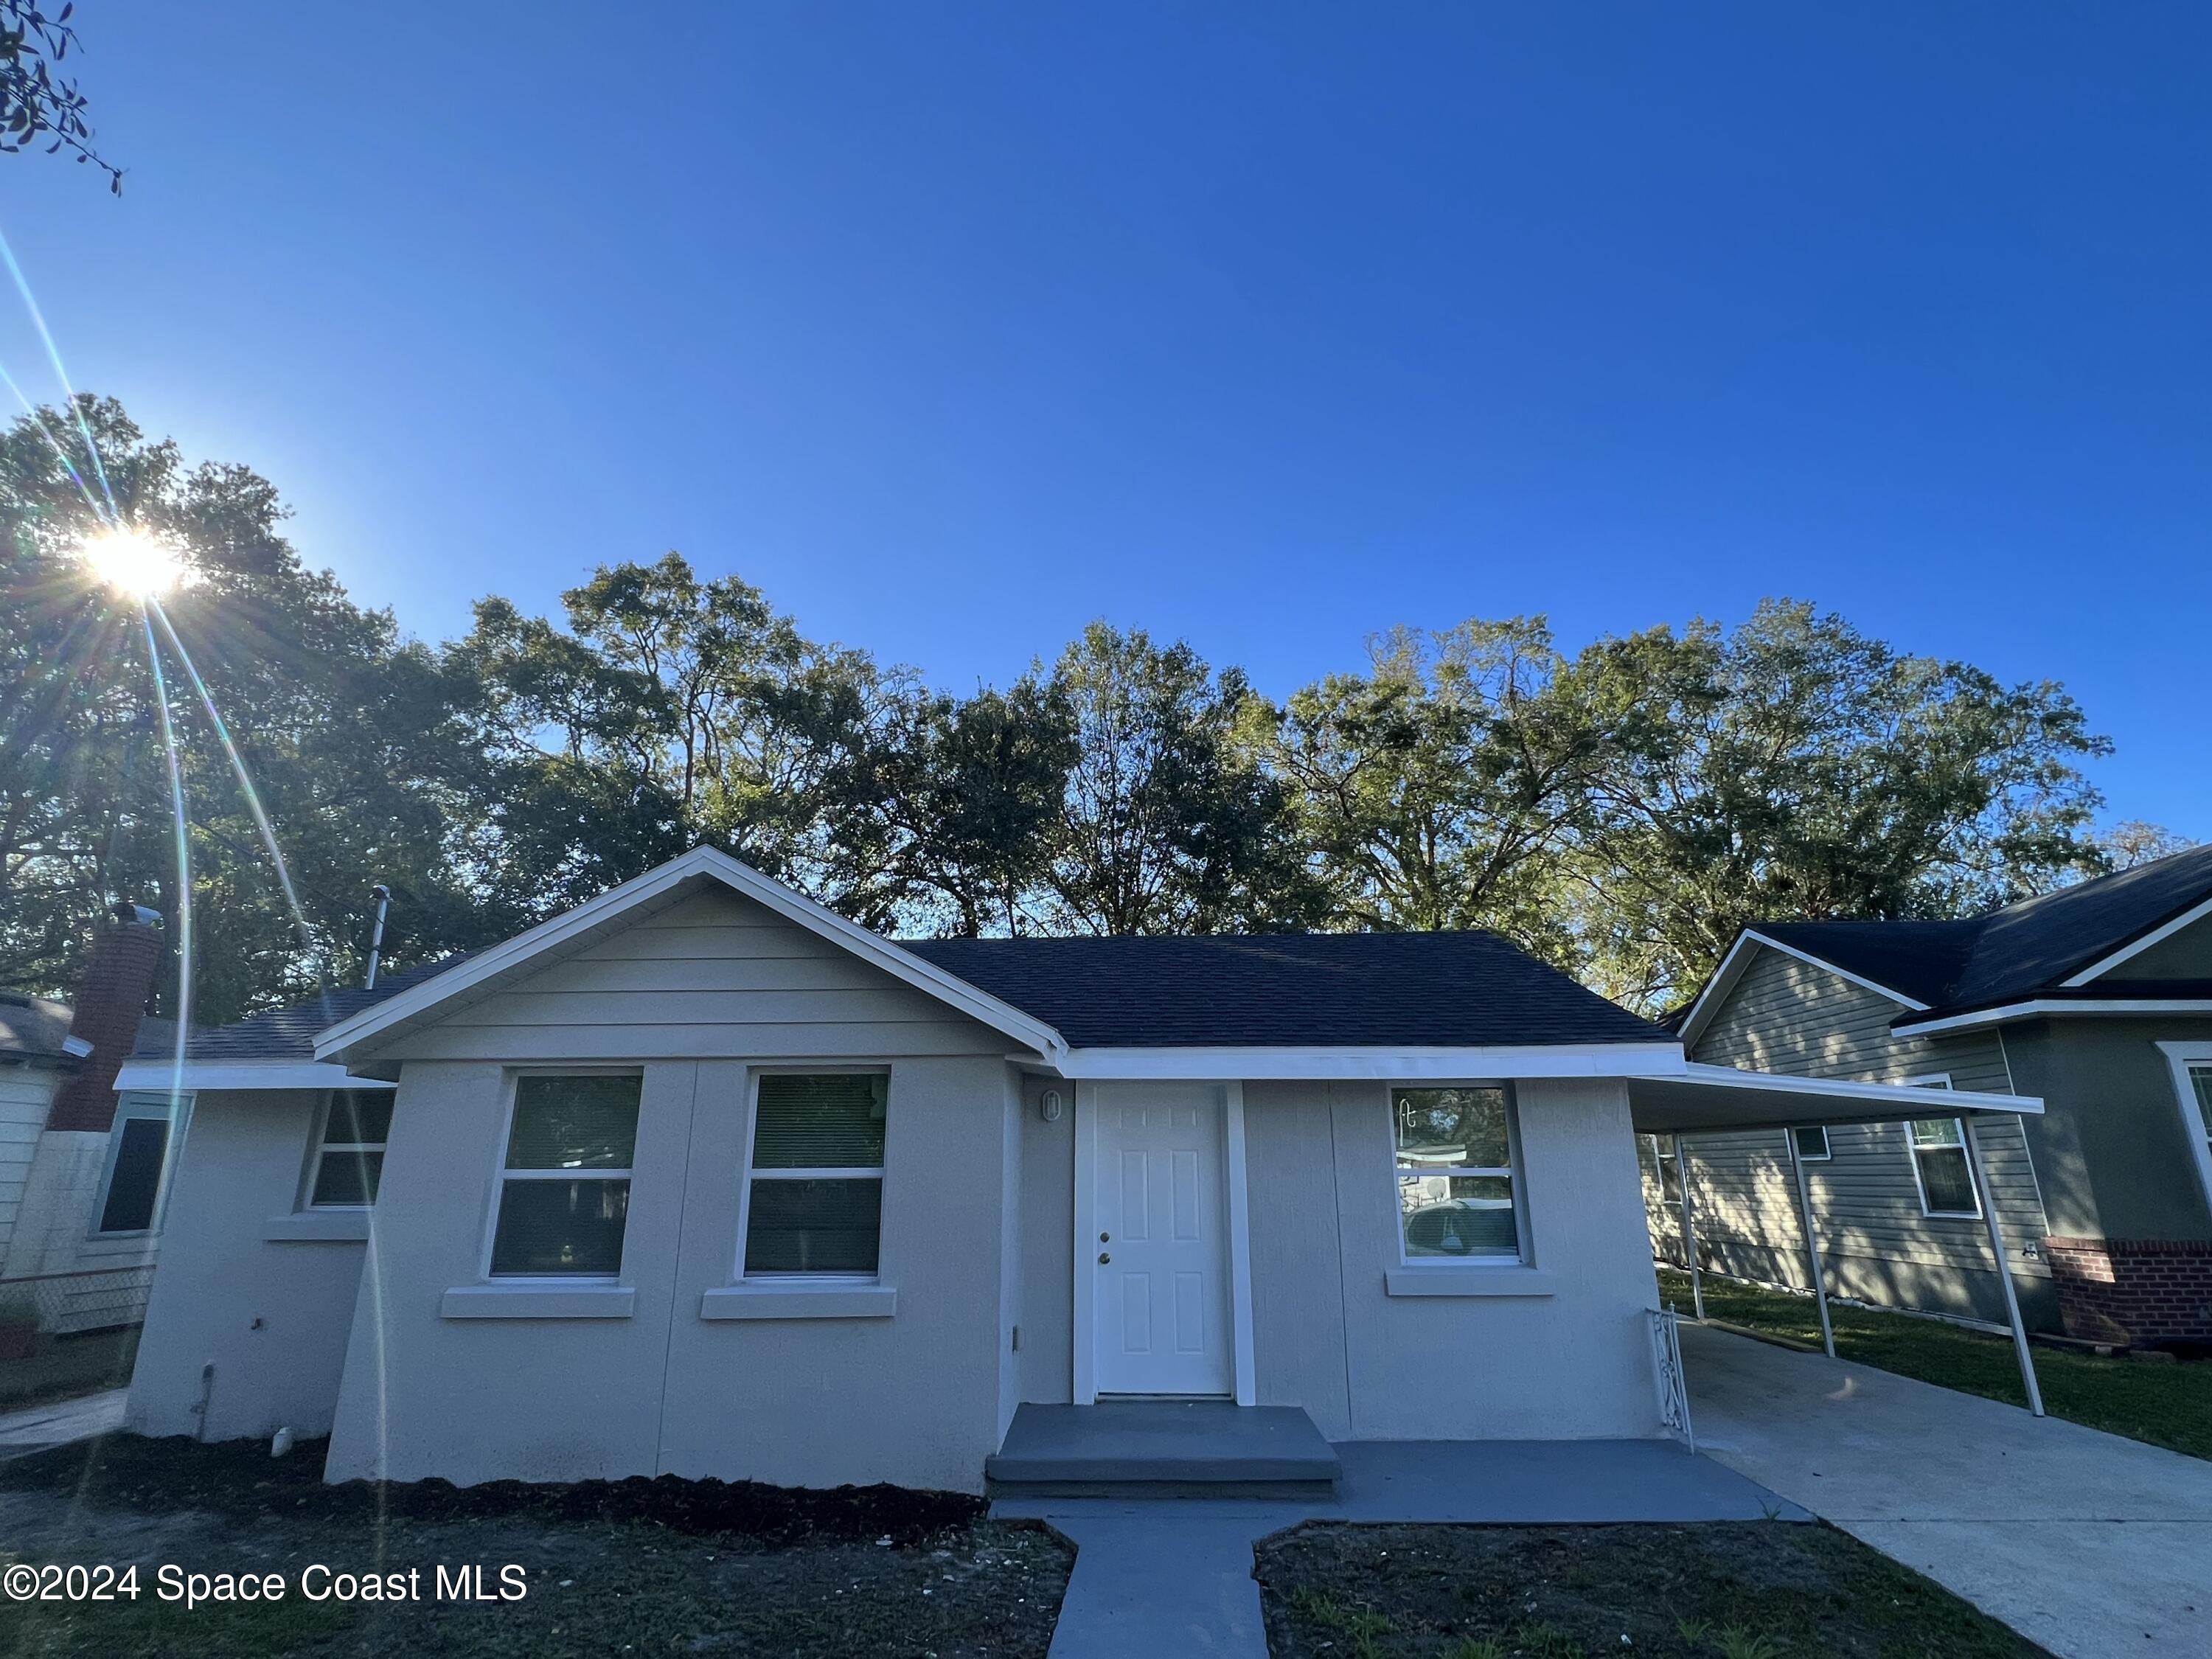
[[[1252,1544],[1307,1520],[1694,1522],[1807,1520],[1708,1458],[1663,1440],[1354,1440],[1316,1502],[1020,1498],[1000,1517],[1044,1520],[1075,1544],[1051,1659],[1230,1655],[1267,1659]]]

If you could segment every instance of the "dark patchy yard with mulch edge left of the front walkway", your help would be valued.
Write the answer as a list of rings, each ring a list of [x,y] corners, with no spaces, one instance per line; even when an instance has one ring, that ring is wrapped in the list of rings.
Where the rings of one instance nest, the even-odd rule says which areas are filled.
[[[259,1442],[128,1436],[0,1464],[0,1568],[139,1568],[135,1599],[0,1601],[0,1655],[1042,1659],[1068,1582],[1055,1535],[984,1522],[982,1500],[956,1493],[666,1478],[374,1489],[325,1486],[321,1469],[319,1442],[272,1460]],[[283,1597],[188,1608],[159,1599],[161,1564],[274,1573]],[[438,1568],[451,1584],[471,1564],[493,1599],[440,1597]],[[520,1599],[495,1599],[507,1566]],[[338,1588],[336,1573],[418,1599],[307,1597]]]

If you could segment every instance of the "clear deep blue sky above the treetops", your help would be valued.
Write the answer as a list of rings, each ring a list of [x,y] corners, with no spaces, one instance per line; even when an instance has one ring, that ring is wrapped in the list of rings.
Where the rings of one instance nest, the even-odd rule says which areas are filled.
[[[1787,593],[2212,838],[2205,9],[626,11],[84,0],[124,197],[0,159],[75,378],[422,637],[675,546],[1285,692]]]

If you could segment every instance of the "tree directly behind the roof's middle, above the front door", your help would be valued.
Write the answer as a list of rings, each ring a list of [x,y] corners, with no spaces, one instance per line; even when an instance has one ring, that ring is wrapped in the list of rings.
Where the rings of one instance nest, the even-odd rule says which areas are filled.
[[[1093,622],[1053,668],[1075,763],[1040,920],[1064,933],[1214,933],[1323,916],[1283,787],[1237,741],[1250,686],[1188,644]]]

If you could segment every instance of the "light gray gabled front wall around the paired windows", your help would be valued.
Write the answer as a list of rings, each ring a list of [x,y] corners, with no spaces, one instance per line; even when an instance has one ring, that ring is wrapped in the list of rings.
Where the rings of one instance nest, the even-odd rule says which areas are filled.
[[[409,1033],[330,1475],[719,1475],[975,1491],[998,1447],[1006,1040],[728,894]],[[628,1318],[440,1316],[480,1283],[507,1075],[637,1060]],[[889,1062],[894,1318],[706,1321],[739,1261],[750,1064]]]

